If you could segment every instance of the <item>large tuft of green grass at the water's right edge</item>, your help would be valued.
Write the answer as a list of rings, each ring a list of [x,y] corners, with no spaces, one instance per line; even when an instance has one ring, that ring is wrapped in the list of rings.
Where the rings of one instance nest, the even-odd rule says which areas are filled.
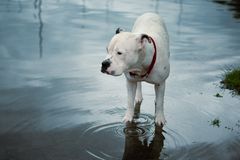
[[[227,70],[221,81],[224,88],[233,90],[240,95],[240,67]]]

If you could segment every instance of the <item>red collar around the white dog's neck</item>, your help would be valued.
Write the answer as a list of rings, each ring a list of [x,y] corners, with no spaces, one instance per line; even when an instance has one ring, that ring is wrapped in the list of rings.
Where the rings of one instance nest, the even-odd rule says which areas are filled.
[[[154,53],[153,53],[152,62],[151,62],[151,64],[149,65],[147,72],[144,73],[144,74],[142,74],[142,75],[140,75],[141,78],[144,78],[144,77],[147,78],[147,77],[148,77],[148,75],[151,73],[151,71],[152,71],[152,69],[153,69],[153,66],[154,66],[154,64],[155,64],[155,62],[156,62],[156,58],[157,58],[156,43],[155,43],[155,41],[153,40],[152,37],[150,37],[150,36],[148,36],[148,37],[149,37],[149,39],[153,42]],[[151,41],[150,41],[150,43],[151,43]],[[129,72],[129,74],[130,74],[130,76],[136,76],[136,74],[133,73],[133,72]]]

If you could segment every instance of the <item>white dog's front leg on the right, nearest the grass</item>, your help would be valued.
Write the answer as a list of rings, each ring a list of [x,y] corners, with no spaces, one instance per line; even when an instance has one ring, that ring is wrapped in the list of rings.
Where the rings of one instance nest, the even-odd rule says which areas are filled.
[[[164,125],[166,123],[164,113],[163,113],[163,99],[165,92],[165,82],[160,85],[155,84],[155,123],[158,126]]]

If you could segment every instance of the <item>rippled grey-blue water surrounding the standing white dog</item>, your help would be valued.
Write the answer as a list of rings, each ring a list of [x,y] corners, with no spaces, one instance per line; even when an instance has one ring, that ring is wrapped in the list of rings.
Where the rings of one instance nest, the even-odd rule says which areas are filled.
[[[240,98],[219,87],[224,68],[240,64],[239,7],[222,4],[1,0],[0,159],[240,159]],[[171,40],[163,128],[152,85],[124,125],[124,77],[100,73],[115,29],[147,11]]]

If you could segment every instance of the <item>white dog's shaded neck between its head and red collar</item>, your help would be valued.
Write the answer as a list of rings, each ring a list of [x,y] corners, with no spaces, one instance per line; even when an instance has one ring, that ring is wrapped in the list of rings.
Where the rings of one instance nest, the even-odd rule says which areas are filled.
[[[154,55],[154,47],[152,43],[146,42],[145,47],[139,53],[140,55],[137,65],[128,70],[132,75],[141,76],[147,72]]]

